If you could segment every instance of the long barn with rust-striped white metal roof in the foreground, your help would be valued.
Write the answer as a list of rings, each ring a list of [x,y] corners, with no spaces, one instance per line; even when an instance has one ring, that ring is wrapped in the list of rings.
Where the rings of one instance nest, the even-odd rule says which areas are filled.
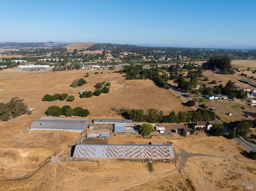
[[[172,159],[170,145],[92,145],[78,144],[73,158]]]

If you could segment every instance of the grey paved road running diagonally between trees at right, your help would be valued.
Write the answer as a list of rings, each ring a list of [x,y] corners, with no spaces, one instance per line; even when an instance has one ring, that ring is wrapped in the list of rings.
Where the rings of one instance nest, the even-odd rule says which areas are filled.
[[[187,95],[184,95],[184,94],[182,94],[181,92],[179,92],[177,89],[175,89],[175,88],[171,88],[171,89],[172,89],[172,91],[174,91],[177,95],[180,95],[180,97],[183,98],[183,99],[185,100],[185,102],[187,102],[187,101],[189,101],[189,100],[192,100],[191,98],[187,97]],[[200,108],[200,106],[198,106],[197,104],[195,104],[194,107],[195,107],[196,109]],[[216,119],[216,118],[215,118],[214,120],[212,120],[212,122],[213,122],[213,123],[216,123],[216,124],[223,124],[220,120],[218,120],[218,119]],[[230,129],[229,129],[227,126],[224,125],[224,127],[225,127],[226,133],[231,133]],[[253,151],[256,152],[256,146],[255,146],[254,144],[252,144],[252,143],[248,143],[248,142],[247,142],[246,140],[244,140],[242,137],[238,136],[238,137],[235,138],[235,140],[236,140],[240,145],[242,145],[246,150],[248,150],[248,151],[253,150]]]

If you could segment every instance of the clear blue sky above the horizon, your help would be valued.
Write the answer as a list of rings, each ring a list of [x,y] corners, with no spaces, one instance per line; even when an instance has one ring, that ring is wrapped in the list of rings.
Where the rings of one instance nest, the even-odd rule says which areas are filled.
[[[256,0],[0,0],[0,42],[256,47]]]

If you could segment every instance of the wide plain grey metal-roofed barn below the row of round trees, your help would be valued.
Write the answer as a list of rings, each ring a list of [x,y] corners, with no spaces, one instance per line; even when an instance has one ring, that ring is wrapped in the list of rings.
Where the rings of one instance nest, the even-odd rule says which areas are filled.
[[[31,130],[64,130],[83,132],[89,119],[87,118],[55,118],[42,117],[32,122]]]

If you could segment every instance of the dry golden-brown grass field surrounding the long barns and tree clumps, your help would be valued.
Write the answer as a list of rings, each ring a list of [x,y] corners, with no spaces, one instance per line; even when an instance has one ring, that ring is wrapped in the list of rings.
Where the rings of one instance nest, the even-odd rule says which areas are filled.
[[[85,78],[88,83],[71,88],[72,81],[84,77],[86,72],[90,74]],[[246,152],[240,145],[223,137],[208,137],[202,133],[187,136],[185,140],[174,140],[174,137],[182,137],[178,134],[160,136],[156,133],[151,139],[143,139],[140,135],[111,134],[108,144],[170,143],[175,151],[176,164],[153,162],[154,170],[149,171],[148,163],[142,161],[70,161],[71,148],[68,144],[79,138],[80,134],[29,131],[30,124],[46,116],[45,112],[51,105],[70,105],[72,108],[81,106],[90,111],[88,118],[115,119],[122,117],[112,110],[113,107],[141,108],[144,111],[156,108],[163,110],[165,115],[172,110],[190,110],[181,104],[182,101],[171,90],[160,89],[150,80],[127,81],[124,74],[100,72],[94,74],[95,71],[82,69],[42,73],[19,73],[11,69],[0,71],[0,89],[4,89],[0,92],[0,102],[6,103],[18,96],[24,99],[29,108],[34,108],[32,115],[0,122],[0,190],[190,191],[194,187],[197,191],[240,191],[243,189],[242,184],[256,182],[255,162],[246,158]],[[209,75],[209,81],[222,80],[224,85],[229,79],[236,81],[240,78],[237,74],[212,75],[207,71],[205,74]],[[103,81],[111,83],[110,93],[79,98],[80,90],[94,91],[93,86]],[[125,88],[125,85],[128,87]],[[45,94],[54,93],[68,93],[74,95],[75,100],[41,101]],[[242,115],[240,108],[232,104],[242,103],[240,100],[208,102],[209,107],[214,105],[216,114],[221,118],[227,117],[227,120],[228,117],[239,118],[233,111],[232,116],[221,113],[228,107],[227,110],[235,109],[237,115]],[[49,162],[52,156],[59,156],[60,163]]]

